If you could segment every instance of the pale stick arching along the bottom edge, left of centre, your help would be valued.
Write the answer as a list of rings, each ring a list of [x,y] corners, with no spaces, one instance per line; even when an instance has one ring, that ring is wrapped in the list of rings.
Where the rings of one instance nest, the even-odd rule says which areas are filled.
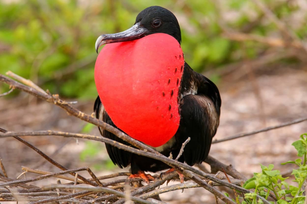
[[[107,193],[112,193],[115,194],[119,197],[125,198],[126,194],[116,191],[114,189],[111,188],[106,188],[106,187],[93,187],[93,186],[74,186],[74,185],[63,185],[63,184],[51,184],[48,186],[44,186],[43,189],[45,190],[51,190],[51,189],[55,189],[55,188],[65,188],[65,189],[76,189],[76,190],[86,190],[86,191],[97,191],[97,192],[107,192]],[[134,196],[128,196],[129,199],[131,199],[134,202],[139,202],[142,204],[153,204],[152,202],[140,199],[140,198],[136,198]],[[40,204],[42,202],[33,202],[30,204]]]

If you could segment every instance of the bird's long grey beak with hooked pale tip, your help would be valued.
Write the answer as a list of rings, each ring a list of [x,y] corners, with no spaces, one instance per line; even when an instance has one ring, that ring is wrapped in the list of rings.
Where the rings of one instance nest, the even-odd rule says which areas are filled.
[[[140,26],[140,23],[134,24],[128,30],[113,34],[103,34],[98,37],[95,43],[95,49],[98,53],[98,48],[107,43],[119,43],[129,40],[140,39],[147,35],[149,31]]]

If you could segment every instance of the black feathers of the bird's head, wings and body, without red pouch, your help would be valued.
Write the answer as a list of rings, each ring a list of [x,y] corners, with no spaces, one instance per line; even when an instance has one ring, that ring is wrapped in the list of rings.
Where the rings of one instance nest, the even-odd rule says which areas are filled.
[[[123,37],[122,34],[119,37],[116,37],[116,34],[111,34],[112,37],[107,39],[105,37],[107,35],[104,35],[104,40],[112,40],[113,38],[116,39],[114,42],[121,42],[160,32],[172,35],[181,43],[181,32],[176,17],[169,10],[160,6],[151,6],[140,12],[135,25],[142,27],[142,33],[138,32],[134,37],[129,35],[128,38]],[[96,44],[96,49],[98,47]],[[183,57],[183,54],[180,57]],[[219,125],[221,98],[218,88],[208,78],[194,72],[186,62],[184,67],[180,68],[180,71],[182,69],[183,75],[177,96],[181,116],[179,128],[172,139],[154,149],[165,156],[172,153],[173,158],[176,158],[182,143],[190,137],[191,140],[185,146],[184,153],[179,161],[194,165],[201,163],[208,156],[212,138]],[[94,111],[98,119],[117,128],[104,110],[99,97],[95,101]],[[100,128],[99,130],[104,137],[129,145],[114,134]],[[109,144],[106,144],[106,148],[114,164],[120,168],[131,165],[133,174],[138,173],[139,170],[156,172],[170,168],[161,161],[132,154]]]

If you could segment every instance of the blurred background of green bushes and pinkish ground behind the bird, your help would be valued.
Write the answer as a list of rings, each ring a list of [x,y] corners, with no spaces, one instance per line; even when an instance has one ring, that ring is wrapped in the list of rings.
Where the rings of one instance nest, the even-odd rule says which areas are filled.
[[[130,28],[137,14],[153,5],[175,14],[185,60],[220,89],[222,109],[215,139],[307,115],[305,0],[0,0],[0,73],[10,70],[30,79],[52,94],[78,101],[75,106],[91,114],[97,97],[93,77],[97,37]],[[0,84],[0,93],[8,90]],[[0,127],[9,131],[99,135],[96,127],[17,90],[0,98],[0,104]],[[213,144],[210,154],[247,177],[261,170],[259,163],[273,163],[287,172],[291,165],[280,163],[296,158],[291,143],[307,132],[306,125]],[[99,176],[122,171],[102,143],[25,139],[68,169],[89,166]],[[0,140],[0,157],[12,178],[21,174],[21,166],[59,171],[14,138]],[[173,191],[161,198],[170,203],[215,203],[203,189]]]

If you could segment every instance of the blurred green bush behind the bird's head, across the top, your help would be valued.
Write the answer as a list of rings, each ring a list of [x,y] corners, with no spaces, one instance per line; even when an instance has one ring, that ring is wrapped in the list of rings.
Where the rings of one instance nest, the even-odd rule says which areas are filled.
[[[97,95],[93,77],[97,37],[129,28],[136,15],[148,6],[163,6],[175,13],[181,25],[185,59],[198,72],[256,58],[268,48],[253,41],[224,38],[222,15],[227,20],[222,23],[237,31],[267,36],[278,30],[248,0],[222,1],[222,8],[213,0],[8,2],[0,1],[0,73],[11,70],[51,93],[80,99],[94,99]],[[278,18],[298,10],[296,4],[289,2],[274,5],[274,1],[266,1]],[[307,24],[304,25],[295,29],[300,38],[307,33]],[[5,90],[7,87],[0,84],[0,91]]]

